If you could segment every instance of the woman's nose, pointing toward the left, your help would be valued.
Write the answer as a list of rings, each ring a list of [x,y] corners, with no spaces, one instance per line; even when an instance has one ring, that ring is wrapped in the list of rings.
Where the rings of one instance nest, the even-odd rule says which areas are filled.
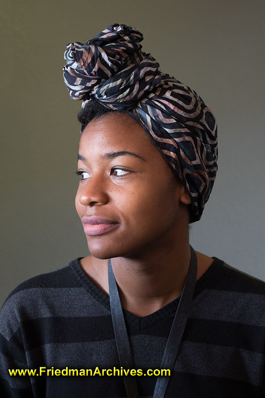
[[[85,206],[102,205],[108,201],[108,190],[105,179],[99,174],[91,176],[87,182],[80,183],[79,201]]]

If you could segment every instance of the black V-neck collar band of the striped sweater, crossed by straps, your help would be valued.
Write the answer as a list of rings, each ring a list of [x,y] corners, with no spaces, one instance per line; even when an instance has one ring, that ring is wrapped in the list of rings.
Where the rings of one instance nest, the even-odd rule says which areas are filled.
[[[110,311],[110,303],[109,303],[109,296],[107,296],[104,292],[102,292],[88,277],[85,271],[82,269],[79,260],[83,259],[84,257],[78,257],[75,260],[72,260],[69,263],[69,267],[74,272],[76,278],[79,280],[82,287],[95,298],[100,304],[104,305],[104,307]],[[218,259],[217,257],[212,257],[214,261],[209,266],[209,268],[204,272],[204,274],[196,281],[195,290],[193,299],[205,288],[209,281],[215,277],[219,271],[222,269],[224,264],[223,260]],[[127,311],[123,308],[124,318],[128,324],[132,324],[138,326],[140,329],[150,326],[166,316],[171,316],[176,312],[177,305],[179,302],[180,296],[175,298],[173,301],[169,302],[168,304],[164,305],[162,308],[158,309],[155,312],[152,312],[146,316],[137,316],[132,314],[131,312]]]

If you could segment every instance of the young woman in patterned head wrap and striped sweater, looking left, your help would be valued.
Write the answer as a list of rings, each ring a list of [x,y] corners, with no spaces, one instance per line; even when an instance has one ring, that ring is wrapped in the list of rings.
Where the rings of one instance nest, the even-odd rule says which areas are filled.
[[[189,245],[217,171],[215,118],[141,40],[113,24],[68,45],[90,255],[5,301],[6,397],[265,396],[265,283]]]

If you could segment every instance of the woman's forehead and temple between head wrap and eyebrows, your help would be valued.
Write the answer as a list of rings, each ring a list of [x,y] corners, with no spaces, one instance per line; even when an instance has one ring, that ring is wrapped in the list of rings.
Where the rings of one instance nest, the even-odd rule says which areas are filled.
[[[79,145],[79,159],[92,162],[108,162],[117,153],[131,152],[133,159],[144,168],[152,170],[156,178],[176,174],[168,165],[159,149],[151,141],[144,128],[128,115],[107,114],[92,119],[84,129]],[[119,155],[118,155],[119,156]],[[140,159],[142,158],[142,159]]]

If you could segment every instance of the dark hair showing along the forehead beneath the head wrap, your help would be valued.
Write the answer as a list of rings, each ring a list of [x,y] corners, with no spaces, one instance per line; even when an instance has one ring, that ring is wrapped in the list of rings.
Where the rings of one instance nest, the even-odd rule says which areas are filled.
[[[81,123],[81,134],[87,127],[88,123],[92,119],[99,119],[101,116],[107,114],[107,113],[116,113],[116,114],[124,114],[126,113],[129,117],[133,118],[146,132],[148,138],[150,139],[151,143],[155,145],[155,147],[159,150],[163,158],[166,160],[168,163],[168,160],[165,157],[165,154],[163,151],[155,144],[154,138],[151,136],[150,132],[146,128],[146,126],[141,122],[140,119],[138,119],[133,112],[130,112],[129,110],[116,110],[116,109],[110,109],[107,108],[106,106],[102,105],[98,100],[95,98],[92,98],[90,101],[86,103],[84,108],[81,109],[81,111],[78,113],[78,120]],[[173,175],[175,179],[182,184],[182,181],[180,178],[177,176],[175,173],[174,169],[171,167],[171,165],[168,163],[170,166],[170,169],[173,172]],[[190,205],[189,206],[189,218],[190,218]],[[189,221],[190,222],[190,221]],[[191,229],[191,226],[189,225],[189,230]]]

